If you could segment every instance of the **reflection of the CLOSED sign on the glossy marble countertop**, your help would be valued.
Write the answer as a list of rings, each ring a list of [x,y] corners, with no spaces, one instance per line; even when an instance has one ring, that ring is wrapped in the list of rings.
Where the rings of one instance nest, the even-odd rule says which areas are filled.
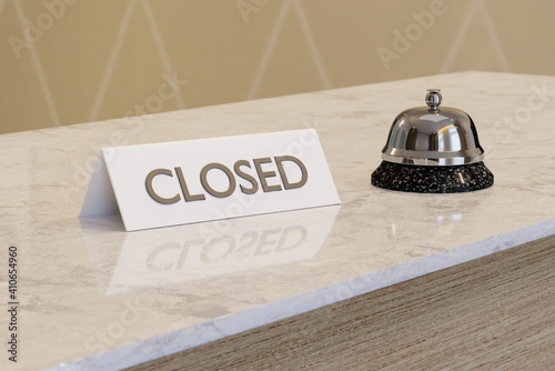
[[[330,233],[339,208],[132,233],[115,231],[105,218],[82,219],[81,227],[100,291],[115,294],[312,259]],[[110,239],[120,239],[119,251],[105,248],[113,245],[105,243]]]

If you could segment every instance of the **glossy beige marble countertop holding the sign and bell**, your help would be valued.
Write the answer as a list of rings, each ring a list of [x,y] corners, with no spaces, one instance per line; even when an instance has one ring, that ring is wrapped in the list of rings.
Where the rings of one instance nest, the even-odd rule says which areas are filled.
[[[371,186],[427,88],[474,119],[492,188]],[[1,292],[14,245],[20,302],[18,363],[3,350],[1,368],[131,367],[554,234],[554,116],[553,77],[461,72],[0,136]],[[117,214],[78,218],[100,147],[303,128],[339,207],[129,233]]]

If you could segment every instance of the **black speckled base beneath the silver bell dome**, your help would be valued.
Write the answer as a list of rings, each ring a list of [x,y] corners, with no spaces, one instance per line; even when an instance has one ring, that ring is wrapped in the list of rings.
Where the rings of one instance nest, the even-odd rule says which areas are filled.
[[[423,167],[382,161],[372,173],[372,184],[403,192],[471,192],[493,186],[493,173],[482,161],[448,167]]]

